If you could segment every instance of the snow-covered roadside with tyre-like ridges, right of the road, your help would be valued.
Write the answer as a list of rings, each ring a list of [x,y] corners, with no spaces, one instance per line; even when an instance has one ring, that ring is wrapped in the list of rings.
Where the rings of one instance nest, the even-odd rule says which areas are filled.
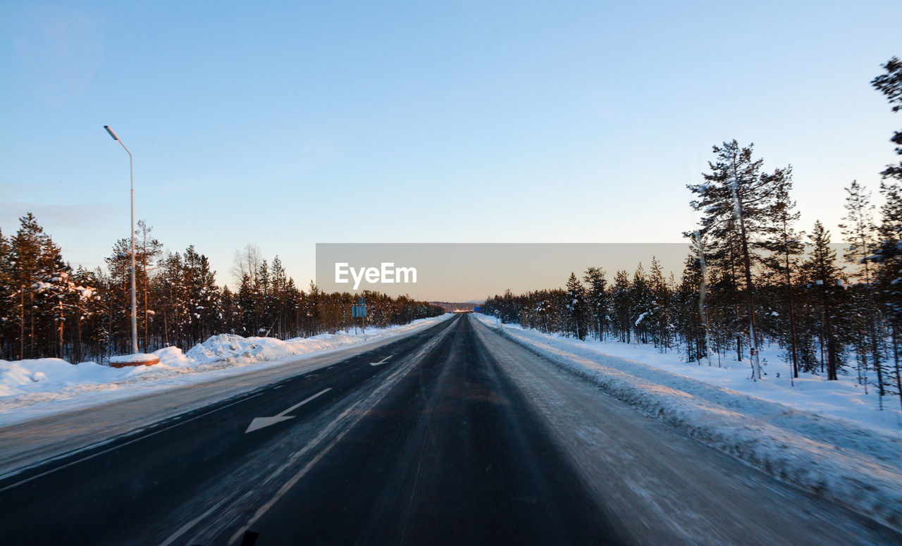
[[[877,410],[845,379],[796,380],[776,353],[769,374],[752,382],[746,363],[697,366],[653,347],[579,341],[517,325],[496,325],[509,338],[598,384],[642,411],[770,474],[902,528],[902,412],[886,397]]]

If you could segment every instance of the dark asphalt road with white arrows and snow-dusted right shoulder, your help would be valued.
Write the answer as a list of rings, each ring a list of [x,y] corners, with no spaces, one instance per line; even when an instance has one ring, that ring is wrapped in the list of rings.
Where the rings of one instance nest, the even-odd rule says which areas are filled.
[[[899,544],[474,319],[0,481],[0,543]]]

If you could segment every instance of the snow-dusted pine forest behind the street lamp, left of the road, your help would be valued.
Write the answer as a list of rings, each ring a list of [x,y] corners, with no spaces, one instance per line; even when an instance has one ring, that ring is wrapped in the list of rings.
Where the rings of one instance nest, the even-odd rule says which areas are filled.
[[[151,232],[138,222],[138,345],[145,352],[170,345],[187,349],[223,333],[286,339],[352,329],[351,305],[361,296],[368,327],[444,312],[405,296],[326,293],[313,282],[300,290],[278,256],[268,263],[255,250],[249,262],[247,249],[236,253],[240,282],[233,291],[217,284],[207,256],[193,245],[162,255],[162,244]],[[73,269],[31,213],[20,218],[13,236],[0,230],[0,358],[105,362],[130,353],[131,248],[131,237],[119,239],[106,257],[106,269]],[[356,319],[356,325],[364,322]]]

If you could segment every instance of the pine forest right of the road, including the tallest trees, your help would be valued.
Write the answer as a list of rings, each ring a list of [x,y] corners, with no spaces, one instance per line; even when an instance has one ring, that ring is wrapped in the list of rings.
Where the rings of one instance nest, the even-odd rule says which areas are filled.
[[[902,61],[883,68],[871,84],[897,112]],[[891,142],[902,154],[902,132]],[[648,272],[640,264],[612,282],[590,267],[562,289],[490,297],[483,312],[548,333],[679,350],[687,361],[735,353],[756,380],[759,347],[777,343],[794,377],[854,374],[881,406],[887,394],[902,403],[902,162],[881,172],[879,211],[858,181],[845,189],[842,264],[820,221],[796,230],[791,167],[765,171],[752,146],[735,140],[713,155],[703,180],[687,186],[701,221],[684,234],[691,252],[679,279],[654,258]]]

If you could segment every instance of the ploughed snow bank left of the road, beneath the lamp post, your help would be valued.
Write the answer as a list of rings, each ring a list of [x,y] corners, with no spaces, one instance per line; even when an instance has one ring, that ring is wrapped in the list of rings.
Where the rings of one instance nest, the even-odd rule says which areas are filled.
[[[0,360],[0,426],[139,393],[213,381],[226,375],[260,370],[264,366],[280,366],[289,360],[409,334],[451,316],[420,319],[385,329],[367,329],[365,334],[340,332],[286,341],[222,334],[208,338],[185,353],[178,347],[155,351],[153,355],[160,357],[160,364],[156,366],[114,368],[93,362],[73,366],[60,358]]]

